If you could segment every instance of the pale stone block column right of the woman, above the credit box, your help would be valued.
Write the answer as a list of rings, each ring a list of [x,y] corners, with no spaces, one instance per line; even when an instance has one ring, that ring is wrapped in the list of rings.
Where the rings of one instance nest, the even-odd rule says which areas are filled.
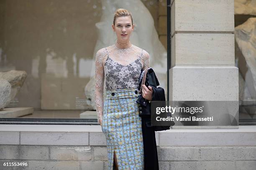
[[[169,100],[238,101],[234,0],[171,3]]]

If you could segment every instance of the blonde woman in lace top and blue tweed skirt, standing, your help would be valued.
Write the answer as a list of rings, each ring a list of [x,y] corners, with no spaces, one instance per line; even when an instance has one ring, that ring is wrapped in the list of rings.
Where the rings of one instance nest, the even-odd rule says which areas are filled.
[[[130,42],[134,25],[128,10],[116,10],[112,28],[117,42],[98,50],[95,59],[95,105],[107,140],[108,169],[143,170],[141,117],[136,100],[140,95],[138,79],[141,69],[149,66],[149,54]],[[151,100],[152,93],[152,87],[143,86],[145,99]]]

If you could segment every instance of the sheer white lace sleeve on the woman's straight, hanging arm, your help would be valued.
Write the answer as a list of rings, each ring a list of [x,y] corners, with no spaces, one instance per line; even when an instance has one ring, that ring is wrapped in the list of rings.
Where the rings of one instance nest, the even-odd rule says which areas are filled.
[[[95,106],[97,119],[102,120],[103,115],[103,88],[104,88],[104,67],[103,67],[104,52],[97,51],[95,57]]]

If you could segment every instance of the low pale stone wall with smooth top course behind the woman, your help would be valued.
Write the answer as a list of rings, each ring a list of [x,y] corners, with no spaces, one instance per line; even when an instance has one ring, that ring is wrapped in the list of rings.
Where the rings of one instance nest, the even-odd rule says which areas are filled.
[[[75,125],[74,125],[75,126]],[[86,129],[87,126],[84,126]],[[4,162],[26,161],[25,170],[107,170],[105,136],[88,132],[0,132]],[[160,170],[255,170],[256,126],[239,129],[172,129],[156,133]]]

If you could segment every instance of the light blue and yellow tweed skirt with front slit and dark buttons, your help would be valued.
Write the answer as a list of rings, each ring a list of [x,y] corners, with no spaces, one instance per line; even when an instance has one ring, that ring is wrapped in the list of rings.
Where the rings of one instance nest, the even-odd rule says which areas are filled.
[[[107,141],[108,170],[113,170],[114,151],[119,170],[143,170],[144,151],[136,87],[108,90],[104,100],[102,132]]]

